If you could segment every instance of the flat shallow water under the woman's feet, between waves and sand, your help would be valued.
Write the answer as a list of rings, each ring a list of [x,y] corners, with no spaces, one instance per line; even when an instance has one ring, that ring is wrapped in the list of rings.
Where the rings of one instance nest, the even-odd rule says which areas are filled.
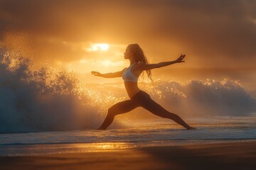
[[[152,146],[202,145],[256,140],[256,116],[188,120],[185,130],[170,120],[129,121],[110,130],[70,130],[0,134],[0,156],[99,152]]]

